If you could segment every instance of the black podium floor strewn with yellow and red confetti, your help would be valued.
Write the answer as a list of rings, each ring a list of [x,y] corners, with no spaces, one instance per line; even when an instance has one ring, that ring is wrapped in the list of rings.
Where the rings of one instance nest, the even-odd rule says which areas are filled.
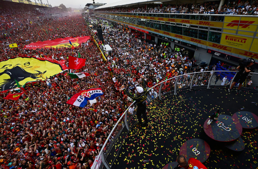
[[[129,132],[121,147],[119,157],[112,168],[162,168],[176,161],[182,144],[192,138],[201,138],[211,147],[207,168],[257,168],[258,129],[243,129],[241,138],[245,149],[232,151],[224,144],[207,137],[203,124],[214,110],[233,115],[237,111],[249,111],[258,115],[257,94],[242,91],[229,93],[221,89],[188,91],[155,102],[148,116],[149,127],[136,126]],[[244,109],[243,109],[244,108]],[[144,163],[143,160],[150,159]]]

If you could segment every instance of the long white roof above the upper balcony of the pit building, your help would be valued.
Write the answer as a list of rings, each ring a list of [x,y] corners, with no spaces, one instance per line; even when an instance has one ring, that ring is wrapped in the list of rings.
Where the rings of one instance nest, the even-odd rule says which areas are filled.
[[[118,7],[118,6],[129,6],[129,5],[136,5],[136,4],[147,4],[147,3],[155,3],[155,2],[164,2],[164,1],[171,1],[171,0],[122,0],[118,2],[109,3],[100,7],[97,7],[95,9],[102,9],[102,8],[112,8],[112,7]],[[94,9],[94,10],[95,10]]]

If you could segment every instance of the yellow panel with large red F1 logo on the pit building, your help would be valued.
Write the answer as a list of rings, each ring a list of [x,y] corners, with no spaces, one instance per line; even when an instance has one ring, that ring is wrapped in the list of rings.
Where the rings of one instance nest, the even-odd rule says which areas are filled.
[[[256,32],[257,24],[257,17],[225,16],[223,28]]]

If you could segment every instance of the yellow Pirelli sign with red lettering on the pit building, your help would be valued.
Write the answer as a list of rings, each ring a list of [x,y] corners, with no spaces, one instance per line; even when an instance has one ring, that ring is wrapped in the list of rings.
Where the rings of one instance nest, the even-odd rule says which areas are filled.
[[[249,51],[252,40],[249,37],[222,33],[220,44]]]

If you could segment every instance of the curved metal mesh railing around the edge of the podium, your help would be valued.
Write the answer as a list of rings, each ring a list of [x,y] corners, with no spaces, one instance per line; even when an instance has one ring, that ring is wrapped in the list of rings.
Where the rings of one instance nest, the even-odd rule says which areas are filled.
[[[179,92],[205,88],[228,88],[232,84],[236,73],[236,71],[207,71],[188,73],[169,78],[148,89],[149,94],[146,100],[147,111],[150,109],[149,103],[163,100]],[[241,90],[258,93],[258,73],[249,73],[246,81],[242,84]],[[98,164],[99,169],[110,169],[114,165],[128,132],[138,121],[135,117],[135,111],[133,114],[127,113],[131,106],[135,106],[135,101],[119,118],[103,144],[96,159],[96,161],[99,161],[101,156],[101,163]],[[95,168],[96,165],[97,163],[94,163],[92,168]]]

